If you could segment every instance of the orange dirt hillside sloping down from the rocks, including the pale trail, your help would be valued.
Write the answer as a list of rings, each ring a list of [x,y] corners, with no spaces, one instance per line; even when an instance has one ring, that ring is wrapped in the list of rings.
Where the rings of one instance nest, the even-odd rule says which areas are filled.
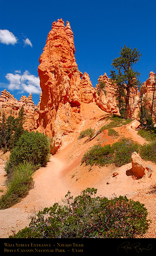
[[[114,128],[119,133],[119,137],[108,136],[108,131],[104,130],[91,141],[87,137],[79,139],[81,131],[87,128],[98,131],[103,125],[110,123],[108,113],[102,111],[96,104],[81,103],[81,123],[75,133],[64,136],[63,144],[47,164],[34,172],[34,188],[18,204],[5,210],[0,210],[0,238],[8,238],[13,232],[29,225],[30,216],[39,209],[52,206],[56,201],[60,201],[65,194],[70,191],[73,196],[77,196],[83,189],[88,187],[97,188],[97,194],[107,196],[109,199],[115,196],[127,196],[145,204],[148,209],[148,218],[152,223],[144,237],[156,238],[156,165],[146,162],[153,167],[150,178],[146,175],[135,180],[127,171],[132,164],[128,163],[122,167],[108,165],[104,167],[81,165],[83,154],[95,144],[113,144],[119,138],[125,136],[132,138],[139,144],[148,143],[138,136],[137,130],[131,128],[131,123]],[[0,195],[5,193],[5,161],[9,153],[0,156]],[[113,177],[113,173],[118,175]],[[3,192],[2,192],[3,190]]]

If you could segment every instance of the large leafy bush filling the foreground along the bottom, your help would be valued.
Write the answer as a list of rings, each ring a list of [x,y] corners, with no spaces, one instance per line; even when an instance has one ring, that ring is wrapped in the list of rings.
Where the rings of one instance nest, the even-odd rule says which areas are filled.
[[[9,238],[134,238],[148,229],[147,209],[123,196],[95,196],[87,188],[73,199],[68,191],[60,204],[31,217],[29,227]]]

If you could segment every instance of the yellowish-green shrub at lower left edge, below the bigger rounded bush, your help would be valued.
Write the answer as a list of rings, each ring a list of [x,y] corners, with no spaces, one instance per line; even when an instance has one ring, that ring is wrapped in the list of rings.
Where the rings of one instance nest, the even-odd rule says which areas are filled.
[[[34,170],[36,170],[34,165],[29,162],[24,162],[14,168],[13,178],[7,184],[7,192],[0,198],[0,209],[17,204],[28,194],[33,186],[32,173]]]

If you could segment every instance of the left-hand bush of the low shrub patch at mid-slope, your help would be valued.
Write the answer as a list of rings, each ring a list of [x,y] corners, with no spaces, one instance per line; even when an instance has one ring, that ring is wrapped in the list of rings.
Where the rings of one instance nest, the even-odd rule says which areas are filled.
[[[86,154],[83,155],[81,163],[86,165],[106,165],[111,163],[112,148],[110,145],[102,147],[94,145]]]

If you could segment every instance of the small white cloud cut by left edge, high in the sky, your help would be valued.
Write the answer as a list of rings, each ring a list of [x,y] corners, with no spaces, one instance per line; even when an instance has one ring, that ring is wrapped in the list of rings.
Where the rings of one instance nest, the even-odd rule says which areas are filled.
[[[16,44],[17,37],[7,29],[0,29],[0,42],[3,44]]]

